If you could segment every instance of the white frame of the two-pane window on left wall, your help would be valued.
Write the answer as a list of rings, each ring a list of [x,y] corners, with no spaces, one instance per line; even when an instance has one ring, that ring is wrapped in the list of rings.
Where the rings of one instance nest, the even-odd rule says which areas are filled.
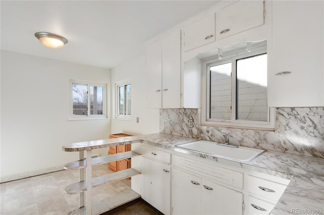
[[[91,103],[88,102],[88,115],[73,115],[73,85],[86,85],[88,91],[91,86],[102,87],[102,115],[91,115]],[[90,101],[90,93],[88,93],[88,101]],[[92,81],[84,81],[84,80],[75,80],[70,79],[70,110],[69,110],[69,121],[75,120],[102,120],[107,119],[107,84],[101,82],[92,82]]]

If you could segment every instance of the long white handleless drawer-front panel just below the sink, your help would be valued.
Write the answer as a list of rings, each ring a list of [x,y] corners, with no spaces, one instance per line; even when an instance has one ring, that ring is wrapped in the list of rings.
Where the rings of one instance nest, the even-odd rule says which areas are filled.
[[[172,159],[173,165],[176,167],[193,172],[201,177],[212,179],[216,182],[221,182],[241,189],[243,188],[243,173],[179,155],[173,155]]]

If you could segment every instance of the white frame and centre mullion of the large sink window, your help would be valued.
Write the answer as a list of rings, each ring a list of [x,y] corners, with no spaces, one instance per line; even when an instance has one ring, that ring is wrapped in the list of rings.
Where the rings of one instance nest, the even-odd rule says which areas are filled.
[[[255,47],[251,52],[244,50],[230,53],[226,56],[223,56],[221,60],[218,60],[215,56],[201,60],[201,70],[203,75],[201,83],[201,125],[274,131],[275,108],[268,107],[269,111],[267,122],[236,120],[236,61],[239,59],[262,55],[263,53],[267,53],[266,45]],[[230,120],[210,119],[210,84],[208,84],[210,81],[210,73],[208,72],[209,67],[213,65],[220,65],[220,63],[225,64],[229,62],[234,62],[232,63],[231,75],[231,106],[235,108],[231,109]]]

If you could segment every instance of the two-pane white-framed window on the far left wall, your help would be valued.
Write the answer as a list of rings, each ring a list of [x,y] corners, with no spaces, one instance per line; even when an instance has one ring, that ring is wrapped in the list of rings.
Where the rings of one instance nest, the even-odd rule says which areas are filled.
[[[106,118],[106,84],[70,80],[70,120]]]

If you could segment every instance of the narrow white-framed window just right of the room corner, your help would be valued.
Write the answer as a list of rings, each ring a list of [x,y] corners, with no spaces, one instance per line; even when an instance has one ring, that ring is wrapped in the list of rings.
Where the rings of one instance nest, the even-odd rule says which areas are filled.
[[[130,119],[132,107],[132,85],[129,80],[115,83],[116,118]]]

